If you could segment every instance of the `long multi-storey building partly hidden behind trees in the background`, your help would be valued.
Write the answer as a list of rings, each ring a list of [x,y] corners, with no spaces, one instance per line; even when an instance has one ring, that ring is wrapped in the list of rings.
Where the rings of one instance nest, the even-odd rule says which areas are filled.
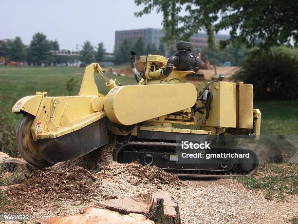
[[[115,48],[117,48],[122,41],[125,39],[130,39],[136,41],[139,38],[142,38],[145,45],[155,44],[156,47],[160,44],[160,39],[164,36],[164,33],[161,29],[157,28],[145,28],[145,29],[134,29],[134,30],[120,30],[115,31]],[[219,44],[220,40],[229,39],[229,35],[225,34],[216,34],[215,42]],[[199,32],[192,35],[190,38],[192,43],[193,50],[201,49],[204,46],[207,46],[207,34],[204,32]]]

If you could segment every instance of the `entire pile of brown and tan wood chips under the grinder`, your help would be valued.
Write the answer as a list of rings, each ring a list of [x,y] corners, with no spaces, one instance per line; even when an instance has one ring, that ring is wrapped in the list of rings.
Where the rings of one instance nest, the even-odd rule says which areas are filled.
[[[28,211],[29,207],[44,207],[68,201],[73,204],[96,203],[118,198],[119,189],[160,186],[160,189],[183,185],[176,175],[155,166],[140,163],[120,164],[112,161],[114,142],[73,161],[35,170],[27,180],[5,191],[14,202],[4,208]],[[111,183],[112,185],[107,185]],[[21,203],[20,203],[21,202]]]

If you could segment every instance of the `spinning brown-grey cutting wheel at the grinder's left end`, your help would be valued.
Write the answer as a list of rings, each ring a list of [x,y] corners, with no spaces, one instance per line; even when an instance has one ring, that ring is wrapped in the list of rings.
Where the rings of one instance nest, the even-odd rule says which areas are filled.
[[[38,142],[35,142],[31,134],[31,126],[34,121],[34,116],[26,114],[19,122],[17,129],[17,142],[19,146],[19,153],[27,163],[38,168],[48,167],[54,165],[47,162],[39,154]]]

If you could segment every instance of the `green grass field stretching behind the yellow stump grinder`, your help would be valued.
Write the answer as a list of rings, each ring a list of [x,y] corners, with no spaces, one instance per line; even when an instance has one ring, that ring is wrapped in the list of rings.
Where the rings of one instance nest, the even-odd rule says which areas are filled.
[[[0,142],[11,133],[14,139],[15,128],[21,116],[11,113],[15,102],[36,91],[47,91],[49,96],[69,95],[66,82],[76,81],[73,94],[76,95],[83,78],[84,69],[76,67],[6,67],[0,66]],[[106,94],[108,89],[98,74],[94,74],[98,90]],[[122,85],[135,84],[133,77],[110,77]],[[298,102],[256,102],[255,108],[262,113],[262,135],[298,135]],[[5,134],[4,134],[5,133]],[[11,141],[11,140],[5,140]],[[4,142],[5,142],[4,141]],[[14,147],[12,145],[11,147]]]

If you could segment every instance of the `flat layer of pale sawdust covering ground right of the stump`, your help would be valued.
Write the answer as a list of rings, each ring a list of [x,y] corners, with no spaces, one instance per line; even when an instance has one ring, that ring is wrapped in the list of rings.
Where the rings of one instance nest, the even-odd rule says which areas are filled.
[[[187,187],[169,189],[179,205],[183,224],[282,224],[298,215],[298,195],[270,201],[260,190],[248,190],[232,179],[186,181]]]

